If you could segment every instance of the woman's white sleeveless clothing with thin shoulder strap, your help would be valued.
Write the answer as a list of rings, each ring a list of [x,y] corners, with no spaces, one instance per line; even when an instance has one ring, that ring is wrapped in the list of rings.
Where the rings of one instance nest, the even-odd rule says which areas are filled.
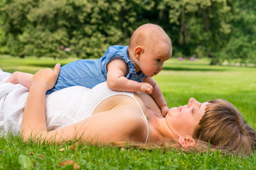
[[[28,96],[28,89],[21,84],[4,83],[10,76],[9,73],[1,72],[0,69],[0,134],[11,130],[18,135],[21,129],[23,109]],[[96,107],[106,98],[116,95],[130,96],[135,99],[133,93],[112,91],[108,89],[106,82],[88,89],[83,86],[71,86],[56,91],[45,99],[45,117],[48,130],[64,128],[78,123],[94,113]],[[140,108],[148,127],[145,142],[148,141],[149,125],[143,110]]]

